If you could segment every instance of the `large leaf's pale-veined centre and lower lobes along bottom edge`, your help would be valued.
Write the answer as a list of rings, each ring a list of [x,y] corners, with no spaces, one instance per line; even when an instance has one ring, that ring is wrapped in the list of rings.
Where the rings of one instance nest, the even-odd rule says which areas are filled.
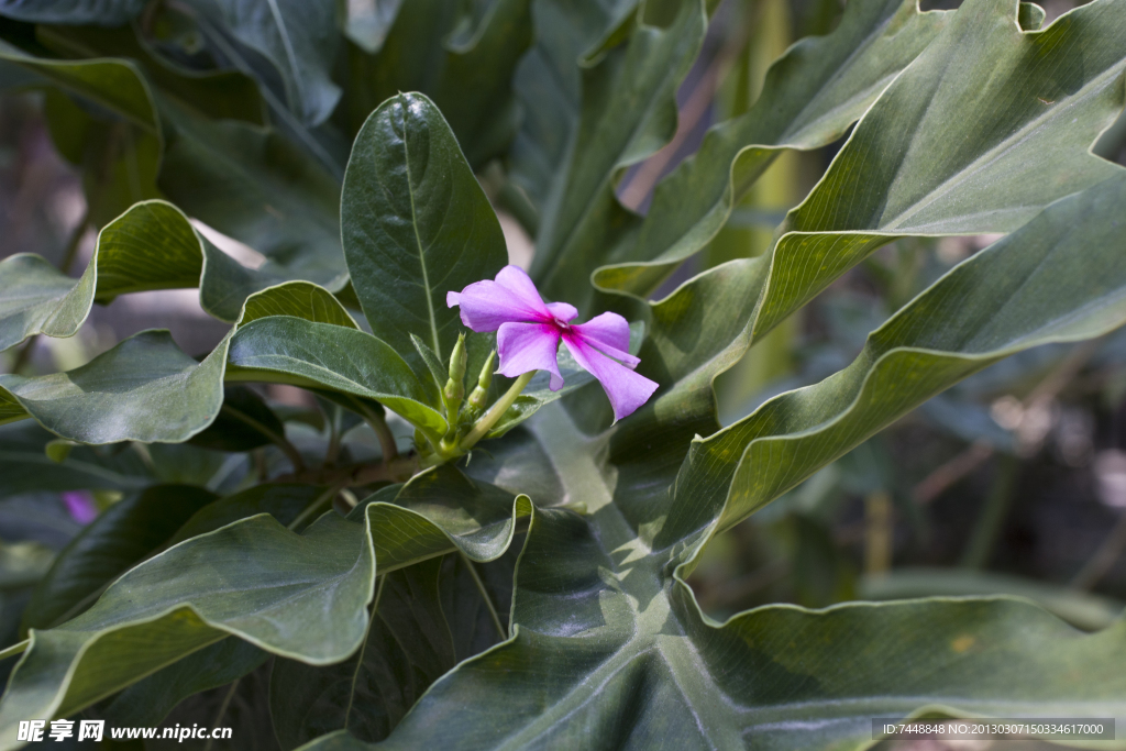
[[[598,748],[829,749],[870,742],[873,716],[935,705],[1121,715],[1121,623],[1087,635],[1029,602],[995,599],[775,606],[717,624],[673,576],[698,540],[647,542],[653,527],[672,524],[631,502],[652,475],[607,462],[605,437],[586,438],[557,408],[530,424],[564,497],[587,513],[536,513],[511,638],[443,677],[383,743],[338,732],[306,749],[591,739]]]

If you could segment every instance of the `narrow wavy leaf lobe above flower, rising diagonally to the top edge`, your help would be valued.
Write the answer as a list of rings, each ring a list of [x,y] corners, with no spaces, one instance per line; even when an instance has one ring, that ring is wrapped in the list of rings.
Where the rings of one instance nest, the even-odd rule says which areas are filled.
[[[636,240],[599,268],[595,284],[645,296],[723,227],[734,204],[785,149],[844,134],[949,23],[914,0],[848,3],[823,37],[793,45],[770,70],[750,111],[714,126],[699,151],[662,180]]]

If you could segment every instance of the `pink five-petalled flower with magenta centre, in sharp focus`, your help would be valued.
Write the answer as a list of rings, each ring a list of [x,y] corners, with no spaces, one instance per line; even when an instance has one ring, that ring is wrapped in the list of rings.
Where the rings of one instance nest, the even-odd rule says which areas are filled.
[[[614,408],[615,421],[649,401],[656,384],[633,372],[641,361],[628,352],[629,324],[617,313],[602,313],[586,323],[570,323],[578,314],[566,303],[544,303],[524,269],[506,266],[495,281],[475,281],[446,295],[459,305],[462,323],[474,331],[495,331],[501,375],[510,378],[531,370],[551,374],[548,387],[558,391],[563,376],[555,359],[560,339],[575,361],[598,378]]]

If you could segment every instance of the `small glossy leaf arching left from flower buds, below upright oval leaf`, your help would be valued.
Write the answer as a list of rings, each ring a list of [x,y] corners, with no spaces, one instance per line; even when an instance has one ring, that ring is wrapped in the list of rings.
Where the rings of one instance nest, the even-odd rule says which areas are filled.
[[[288,383],[374,399],[425,430],[445,435],[446,419],[406,361],[369,333],[276,315],[231,341],[227,381]],[[0,382],[2,383],[2,382]]]

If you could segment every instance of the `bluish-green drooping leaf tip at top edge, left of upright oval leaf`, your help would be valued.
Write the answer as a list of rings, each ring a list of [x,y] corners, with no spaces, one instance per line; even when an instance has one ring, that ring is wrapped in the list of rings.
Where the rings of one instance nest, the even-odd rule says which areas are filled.
[[[339,46],[332,0],[188,0],[211,24],[270,61],[292,109],[309,125],[340,99],[331,69]]]

